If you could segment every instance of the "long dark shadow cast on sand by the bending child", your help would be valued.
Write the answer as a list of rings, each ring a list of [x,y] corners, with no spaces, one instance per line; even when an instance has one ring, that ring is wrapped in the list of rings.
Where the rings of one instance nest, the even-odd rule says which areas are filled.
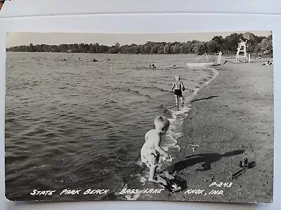
[[[224,154],[219,154],[219,153],[202,153],[198,155],[190,155],[186,157],[186,160],[181,160],[179,162],[176,162],[174,165],[171,167],[167,168],[166,171],[169,171],[169,173],[174,173],[174,172],[180,172],[181,170],[191,167],[193,165],[197,164],[202,164],[201,169],[196,169],[195,171],[208,171],[211,169],[211,164],[213,162],[216,162],[218,160],[221,160],[221,158],[228,158],[230,156],[235,156],[235,155],[240,155],[244,153],[243,150],[237,150],[237,151],[231,151],[228,153]]]

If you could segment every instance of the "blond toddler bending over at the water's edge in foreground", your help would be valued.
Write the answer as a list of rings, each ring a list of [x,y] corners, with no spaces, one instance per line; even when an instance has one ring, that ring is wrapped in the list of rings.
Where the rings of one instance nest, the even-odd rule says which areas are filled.
[[[145,134],[145,144],[141,148],[141,162],[144,162],[150,169],[148,181],[157,182],[154,179],[156,168],[159,162],[159,156],[164,155],[166,160],[171,157],[163,148],[160,147],[161,135],[164,134],[170,125],[170,121],[165,117],[158,116],[154,120],[155,129]]]

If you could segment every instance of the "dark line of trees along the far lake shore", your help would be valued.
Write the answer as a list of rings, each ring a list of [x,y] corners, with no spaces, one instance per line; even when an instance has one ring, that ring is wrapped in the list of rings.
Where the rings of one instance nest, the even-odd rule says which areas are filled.
[[[226,38],[214,36],[210,41],[187,41],[187,42],[151,42],[143,45],[132,43],[131,45],[120,45],[116,43],[112,46],[99,45],[98,43],[74,43],[61,45],[20,45],[7,48],[11,52],[84,52],[84,53],[110,53],[110,54],[188,54],[195,53],[202,55],[204,52],[232,53],[237,51],[237,43],[240,42],[242,34],[233,33]],[[272,49],[272,35],[255,36],[254,40],[247,42],[248,50],[253,52],[257,45],[259,50],[266,51]]]

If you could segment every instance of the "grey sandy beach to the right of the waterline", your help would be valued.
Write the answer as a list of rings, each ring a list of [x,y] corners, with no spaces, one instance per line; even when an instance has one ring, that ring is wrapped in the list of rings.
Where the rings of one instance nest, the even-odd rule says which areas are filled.
[[[171,194],[171,200],[272,201],[273,67],[261,64],[216,66],[216,80],[192,100],[178,140],[181,152],[167,168],[185,179],[187,188]],[[192,151],[190,145],[199,147]],[[244,158],[251,169],[231,180]],[[210,186],[214,182],[223,186]]]

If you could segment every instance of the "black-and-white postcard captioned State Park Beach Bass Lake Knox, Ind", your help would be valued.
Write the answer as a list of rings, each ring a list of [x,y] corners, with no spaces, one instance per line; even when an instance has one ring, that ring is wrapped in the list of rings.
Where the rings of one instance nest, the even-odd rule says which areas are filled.
[[[272,202],[272,37],[8,33],[6,199]]]

